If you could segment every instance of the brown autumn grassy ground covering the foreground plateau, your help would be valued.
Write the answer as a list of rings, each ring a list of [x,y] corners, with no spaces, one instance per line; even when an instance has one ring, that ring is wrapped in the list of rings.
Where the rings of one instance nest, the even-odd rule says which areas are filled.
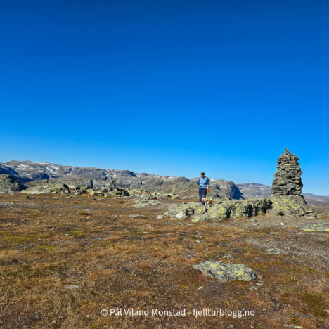
[[[0,327],[328,328],[328,232],[268,215],[258,223],[156,220],[170,202],[181,200],[136,209],[131,198],[1,195]],[[282,253],[266,253],[273,245]],[[220,283],[192,268],[208,259],[245,264],[260,278]],[[255,315],[101,315],[111,308]]]

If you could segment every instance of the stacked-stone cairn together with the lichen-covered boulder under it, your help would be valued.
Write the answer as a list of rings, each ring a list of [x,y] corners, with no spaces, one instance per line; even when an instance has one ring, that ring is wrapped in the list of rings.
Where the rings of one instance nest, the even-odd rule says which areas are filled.
[[[272,212],[292,216],[315,217],[314,211],[307,206],[302,193],[302,170],[299,157],[285,148],[278,158],[278,170],[274,174],[271,189]]]

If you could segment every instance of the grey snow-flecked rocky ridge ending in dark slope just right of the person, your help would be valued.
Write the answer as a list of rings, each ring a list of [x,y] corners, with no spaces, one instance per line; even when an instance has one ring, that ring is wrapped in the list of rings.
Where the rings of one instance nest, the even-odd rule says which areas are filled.
[[[115,181],[120,188],[129,190],[143,189],[149,192],[179,195],[180,198],[195,198],[198,195],[197,179],[186,177],[160,176],[153,174],[136,174],[129,170],[101,169],[91,167],[60,166],[47,162],[11,161],[0,163],[0,174],[11,174],[24,182],[43,180],[44,184],[65,183],[73,186],[79,179],[89,179],[90,183],[82,186],[106,188]],[[56,181],[53,181],[56,179]],[[29,183],[32,186],[34,183]],[[240,199],[241,193],[233,181],[211,180],[211,198]]]

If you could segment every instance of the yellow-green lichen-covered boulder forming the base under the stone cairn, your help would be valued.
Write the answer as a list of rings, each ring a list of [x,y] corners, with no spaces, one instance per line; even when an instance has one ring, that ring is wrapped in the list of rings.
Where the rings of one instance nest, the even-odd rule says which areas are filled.
[[[297,217],[316,217],[313,209],[307,206],[302,195],[272,195],[272,210],[274,214],[289,214]]]

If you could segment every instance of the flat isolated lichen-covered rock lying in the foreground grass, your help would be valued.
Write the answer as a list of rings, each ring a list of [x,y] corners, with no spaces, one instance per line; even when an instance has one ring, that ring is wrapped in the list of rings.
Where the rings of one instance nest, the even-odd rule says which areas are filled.
[[[250,267],[243,264],[231,264],[219,261],[205,261],[197,265],[193,265],[194,269],[198,269],[202,273],[212,278],[217,278],[221,282],[232,280],[251,281],[257,279],[257,273]]]

